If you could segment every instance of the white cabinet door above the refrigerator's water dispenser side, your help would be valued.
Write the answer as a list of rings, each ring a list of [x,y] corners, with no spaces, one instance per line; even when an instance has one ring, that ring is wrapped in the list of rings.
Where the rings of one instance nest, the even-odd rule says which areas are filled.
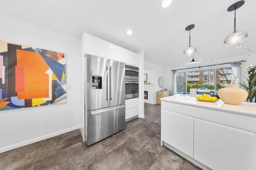
[[[84,33],[84,53],[106,57],[106,41]]]

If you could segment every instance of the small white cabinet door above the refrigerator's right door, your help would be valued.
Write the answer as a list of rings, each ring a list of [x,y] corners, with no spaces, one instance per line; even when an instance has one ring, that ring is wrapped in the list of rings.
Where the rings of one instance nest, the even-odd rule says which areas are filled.
[[[106,42],[106,57],[111,60],[122,62],[122,48],[118,45]]]

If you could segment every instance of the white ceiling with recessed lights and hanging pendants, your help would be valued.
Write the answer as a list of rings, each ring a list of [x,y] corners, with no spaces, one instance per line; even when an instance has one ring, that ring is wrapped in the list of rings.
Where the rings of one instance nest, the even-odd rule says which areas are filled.
[[[0,0],[0,14],[80,39],[82,32],[132,51],[145,51],[145,61],[160,66],[180,66],[192,60],[183,50],[191,30],[195,60],[243,55],[245,49],[226,47],[224,38],[234,29],[236,0]],[[256,51],[256,0],[246,0],[236,11],[236,28],[246,30],[243,45]],[[2,24],[2,26],[4,26]],[[18,25],[17,25],[18,28]],[[126,30],[133,34],[127,35]]]

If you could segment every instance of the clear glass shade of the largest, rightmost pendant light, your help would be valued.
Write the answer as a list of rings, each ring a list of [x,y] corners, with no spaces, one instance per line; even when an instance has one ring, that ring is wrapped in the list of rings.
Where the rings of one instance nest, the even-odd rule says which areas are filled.
[[[234,31],[224,39],[224,44],[228,47],[236,46],[242,43],[246,39],[246,37],[248,37],[248,33],[246,31]]]

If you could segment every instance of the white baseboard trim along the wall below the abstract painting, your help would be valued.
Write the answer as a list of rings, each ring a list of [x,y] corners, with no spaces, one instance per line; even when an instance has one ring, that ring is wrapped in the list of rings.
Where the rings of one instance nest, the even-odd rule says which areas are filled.
[[[3,147],[3,148],[0,148],[0,153],[2,152],[6,152],[8,150],[12,150],[12,149],[16,149],[16,148],[19,148],[19,147],[23,147],[25,145],[29,145],[31,143],[35,143],[35,142],[38,142],[38,141],[42,141],[44,139],[48,139],[50,137],[54,137],[54,136],[57,136],[57,135],[61,135],[63,133],[67,133],[67,132],[70,132],[70,131],[74,131],[76,129],[80,129],[82,127],[82,125],[78,125],[78,126],[74,126],[74,127],[71,127],[71,128],[68,128],[68,129],[64,129],[62,131],[57,131],[57,132],[54,132],[54,133],[50,133],[48,135],[44,135],[44,136],[41,136],[41,137],[37,137],[37,138],[34,138],[34,139],[30,139],[30,140],[27,140],[27,141],[24,141],[24,142],[20,142],[20,143],[16,143],[14,145],[10,145],[10,146],[7,146],[7,147]]]

